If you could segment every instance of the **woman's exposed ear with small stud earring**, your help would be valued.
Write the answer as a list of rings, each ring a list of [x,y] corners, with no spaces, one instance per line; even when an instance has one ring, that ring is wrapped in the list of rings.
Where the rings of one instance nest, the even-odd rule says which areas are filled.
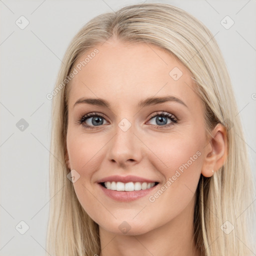
[[[209,142],[205,146],[201,173],[210,177],[225,162],[227,157],[227,134],[221,123],[217,123],[211,132]],[[213,171],[212,171],[213,170]]]

